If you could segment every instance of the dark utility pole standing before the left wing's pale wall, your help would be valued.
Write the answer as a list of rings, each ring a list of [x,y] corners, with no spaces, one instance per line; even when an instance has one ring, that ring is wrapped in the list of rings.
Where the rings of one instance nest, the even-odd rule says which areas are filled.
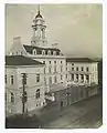
[[[26,73],[21,73],[22,74],[22,88],[23,88],[23,92],[22,92],[22,114],[24,115],[25,113],[25,102],[28,101],[28,96],[26,96],[26,91],[25,91],[25,84],[26,84]]]

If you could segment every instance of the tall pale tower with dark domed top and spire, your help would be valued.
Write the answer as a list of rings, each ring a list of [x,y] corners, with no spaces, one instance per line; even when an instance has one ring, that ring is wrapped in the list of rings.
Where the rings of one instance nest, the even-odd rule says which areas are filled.
[[[31,39],[31,44],[34,47],[45,47],[47,41],[45,37],[45,21],[40,12],[40,6],[38,7],[38,14],[35,16],[32,24],[33,37]]]

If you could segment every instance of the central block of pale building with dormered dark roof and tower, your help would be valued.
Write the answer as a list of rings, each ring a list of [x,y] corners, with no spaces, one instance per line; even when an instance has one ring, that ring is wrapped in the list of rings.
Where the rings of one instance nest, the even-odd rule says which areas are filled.
[[[33,20],[32,30],[31,44],[22,44],[20,37],[14,38],[9,55],[24,55],[44,63],[45,92],[49,92],[51,85],[65,83],[66,59],[56,43],[47,43],[46,25],[40,10]]]

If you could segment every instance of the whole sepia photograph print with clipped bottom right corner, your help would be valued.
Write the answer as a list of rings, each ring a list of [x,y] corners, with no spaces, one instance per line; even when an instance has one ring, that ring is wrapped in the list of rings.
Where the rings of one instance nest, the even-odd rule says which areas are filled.
[[[6,129],[103,125],[103,4],[4,4]]]

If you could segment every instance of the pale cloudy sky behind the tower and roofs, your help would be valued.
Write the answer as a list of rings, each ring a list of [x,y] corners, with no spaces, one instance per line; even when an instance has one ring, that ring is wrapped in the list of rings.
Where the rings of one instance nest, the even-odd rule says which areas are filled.
[[[101,4],[41,4],[40,9],[47,25],[49,44],[58,43],[66,57],[103,57]],[[14,37],[31,44],[36,12],[38,4],[6,4],[6,53]]]

